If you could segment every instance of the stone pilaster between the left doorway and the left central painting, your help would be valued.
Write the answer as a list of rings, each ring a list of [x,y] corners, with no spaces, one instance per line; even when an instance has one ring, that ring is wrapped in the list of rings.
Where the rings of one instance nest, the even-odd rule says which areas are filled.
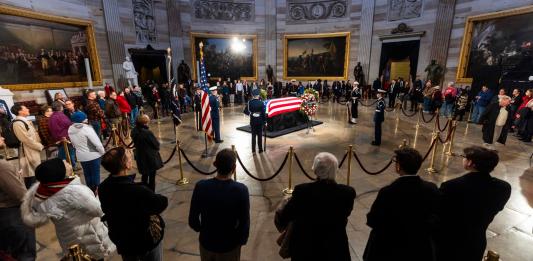
[[[178,80],[178,65],[181,60],[185,59],[183,53],[183,40],[181,38],[183,35],[183,29],[181,26],[179,4],[179,0],[169,0],[167,2],[168,38],[170,40],[170,48],[172,49],[172,75],[176,80]]]

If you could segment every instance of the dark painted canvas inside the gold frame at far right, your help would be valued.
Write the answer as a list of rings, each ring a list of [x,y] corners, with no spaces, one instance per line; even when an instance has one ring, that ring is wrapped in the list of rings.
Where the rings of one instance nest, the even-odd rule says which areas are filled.
[[[533,13],[473,24],[466,78],[499,71],[503,78],[527,78],[533,70]],[[509,30],[512,28],[512,30]]]

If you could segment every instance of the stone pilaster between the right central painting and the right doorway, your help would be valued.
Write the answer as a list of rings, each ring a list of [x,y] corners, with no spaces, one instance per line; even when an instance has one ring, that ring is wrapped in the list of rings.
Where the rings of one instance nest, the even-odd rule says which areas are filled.
[[[357,61],[361,62],[367,84],[370,80],[370,51],[372,48],[372,30],[374,29],[374,0],[362,0],[361,28],[359,31],[359,49]],[[354,65],[355,66],[355,65]],[[348,72],[349,78],[353,77],[353,71]]]

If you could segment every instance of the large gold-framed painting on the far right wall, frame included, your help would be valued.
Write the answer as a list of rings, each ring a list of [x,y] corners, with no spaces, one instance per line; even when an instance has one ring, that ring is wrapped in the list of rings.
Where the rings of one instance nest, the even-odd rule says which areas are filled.
[[[468,17],[456,81],[472,83],[487,74],[527,79],[533,69],[531,21],[533,6]]]

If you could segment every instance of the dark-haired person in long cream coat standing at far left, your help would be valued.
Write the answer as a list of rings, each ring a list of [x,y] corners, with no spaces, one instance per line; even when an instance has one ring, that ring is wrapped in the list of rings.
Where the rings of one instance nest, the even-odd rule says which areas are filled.
[[[41,164],[41,151],[44,146],[33,124],[26,119],[30,115],[30,110],[24,105],[15,104],[11,107],[11,112],[16,115],[12,125],[13,133],[20,141],[19,166],[26,188],[29,188],[35,182],[34,171]]]

